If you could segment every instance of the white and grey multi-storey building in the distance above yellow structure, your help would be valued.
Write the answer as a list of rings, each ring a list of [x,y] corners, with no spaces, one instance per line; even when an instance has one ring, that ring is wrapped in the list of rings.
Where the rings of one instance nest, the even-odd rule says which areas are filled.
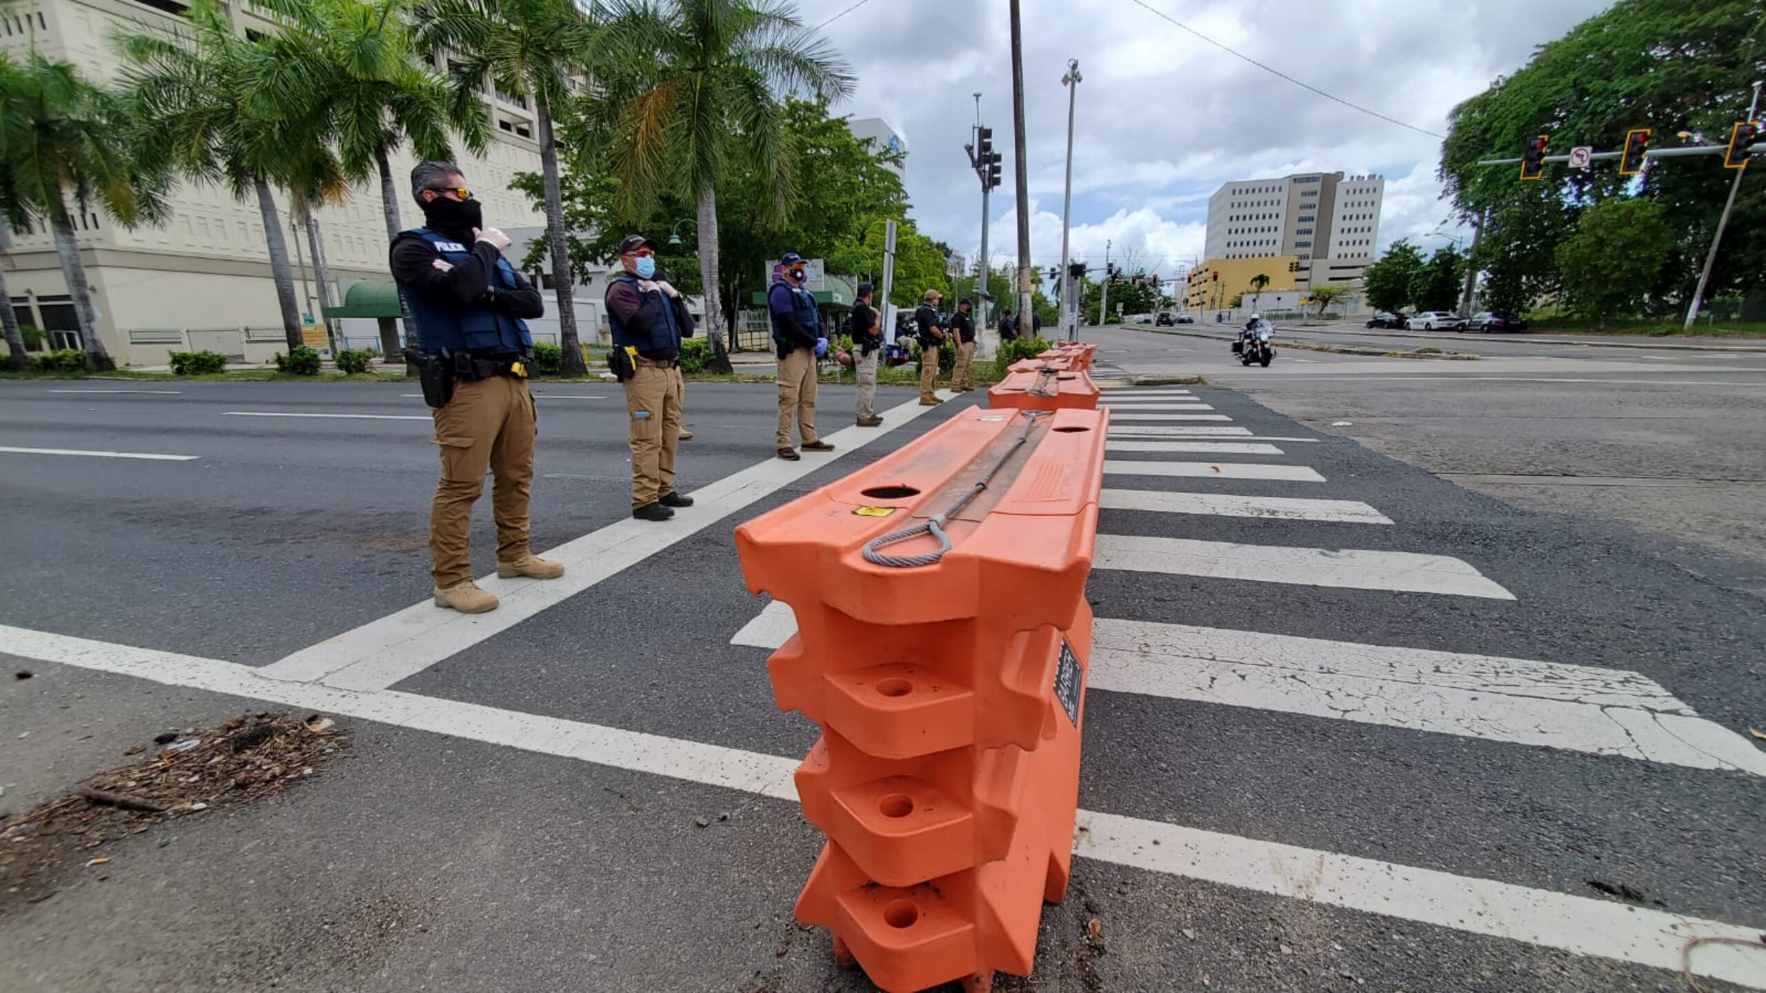
[[[1383,177],[1344,173],[1224,184],[1208,198],[1208,258],[1293,256],[1302,286],[1355,283],[1379,240],[1385,191]]]

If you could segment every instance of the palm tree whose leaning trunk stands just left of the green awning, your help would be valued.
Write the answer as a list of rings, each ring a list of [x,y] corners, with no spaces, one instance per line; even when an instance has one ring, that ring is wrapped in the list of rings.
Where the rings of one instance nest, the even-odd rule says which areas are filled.
[[[275,106],[277,95],[261,87],[274,69],[265,42],[235,35],[215,0],[192,0],[185,18],[194,44],[157,34],[118,41],[129,62],[140,154],[155,170],[223,182],[238,200],[256,196],[283,336],[293,352],[302,345],[300,307],[270,186],[307,182],[300,171],[318,155],[311,152],[313,122],[297,117],[298,104]]]

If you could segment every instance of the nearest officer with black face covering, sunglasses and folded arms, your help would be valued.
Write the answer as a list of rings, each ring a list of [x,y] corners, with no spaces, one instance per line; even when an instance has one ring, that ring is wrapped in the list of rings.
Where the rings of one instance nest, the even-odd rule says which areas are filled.
[[[442,479],[429,505],[429,574],[436,606],[496,610],[496,594],[472,581],[472,504],[489,466],[496,519],[496,574],[555,580],[563,565],[528,548],[533,481],[533,398],[523,318],[544,313],[539,290],[503,260],[509,237],[486,226],[466,177],[452,163],[419,163],[411,196],[424,226],[392,239],[392,277],[417,323],[424,399],[436,426]],[[470,246],[470,247],[468,247]]]

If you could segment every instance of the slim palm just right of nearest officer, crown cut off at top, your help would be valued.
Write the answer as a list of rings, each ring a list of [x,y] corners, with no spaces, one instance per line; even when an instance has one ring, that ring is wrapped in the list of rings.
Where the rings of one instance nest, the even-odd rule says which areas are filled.
[[[597,12],[595,5],[572,0],[427,0],[415,9],[419,48],[450,58],[456,120],[484,120],[489,113],[486,81],[510,97],[533,101],[546,242],[558,295],[558,345],[567,375],[585,375],[588,368],[570,300],[553,110],[569,101],[572,76],[581,74],[593,57],[600,34]]]

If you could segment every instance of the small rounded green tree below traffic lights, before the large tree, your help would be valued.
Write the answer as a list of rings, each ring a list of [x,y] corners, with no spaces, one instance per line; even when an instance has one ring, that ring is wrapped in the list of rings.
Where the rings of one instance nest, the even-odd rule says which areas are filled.
[[[1672,249],[1662,203],[1614,198],[1589,207],[1558,246],[1565,304],[1596,327],[1637,313]]]

